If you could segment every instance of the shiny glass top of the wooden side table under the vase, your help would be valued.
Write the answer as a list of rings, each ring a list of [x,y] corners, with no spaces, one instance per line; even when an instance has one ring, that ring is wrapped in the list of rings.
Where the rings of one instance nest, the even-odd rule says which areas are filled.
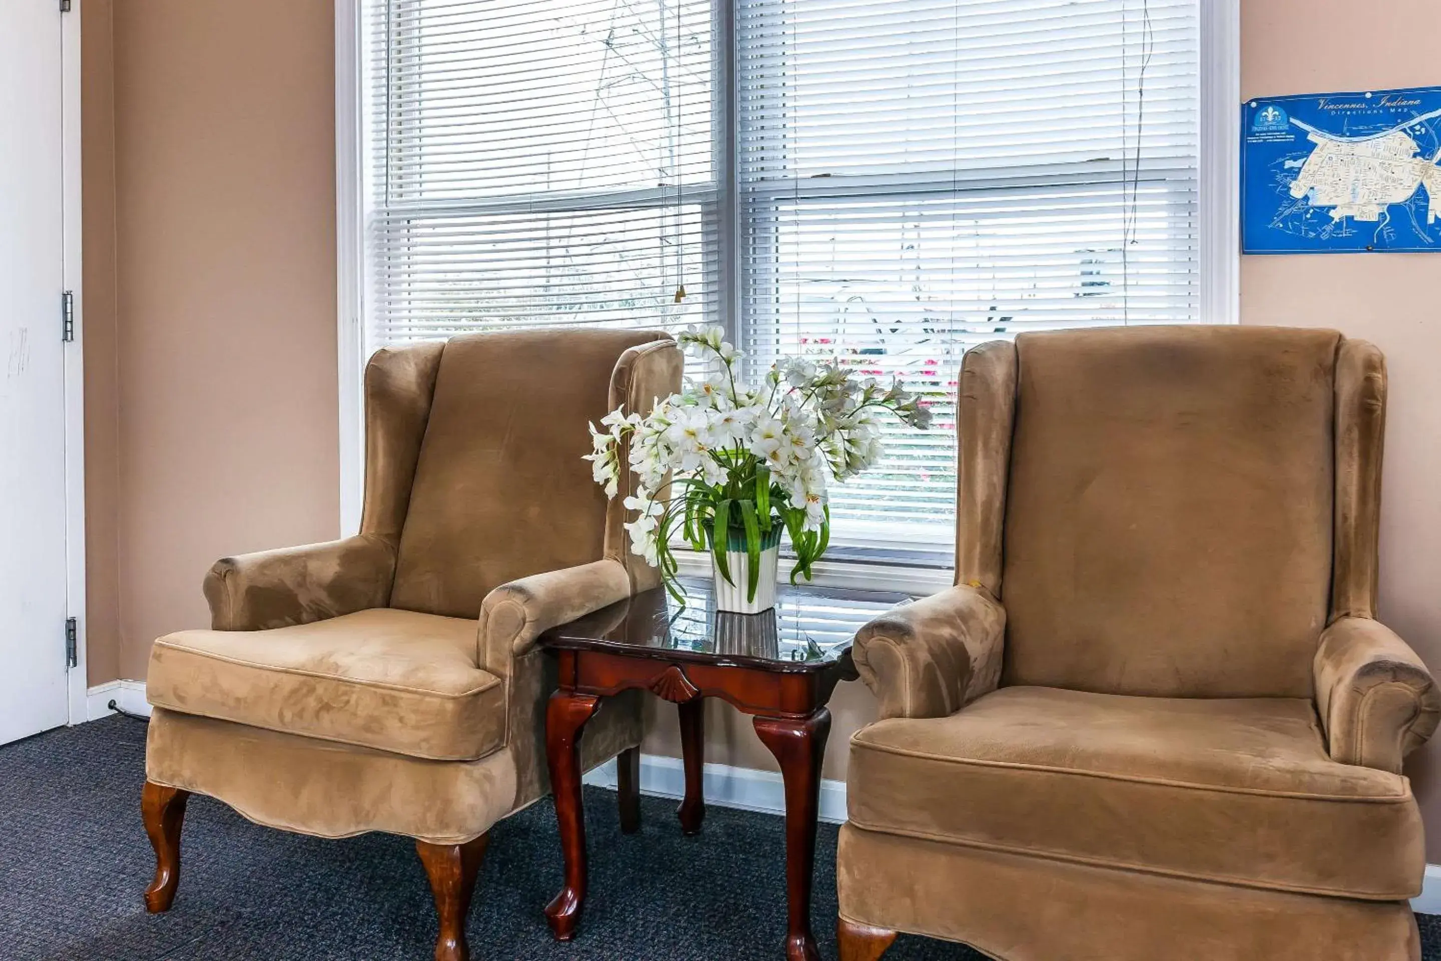
[[[661,588],[646,591],[552,628],[539,643],[781,671],[816,670],[844,656],[867,621],[915,599],[911,594],[784,585],[775,609],[729,614],[715,609],[709,578],[683,578],[682,588],[684,604]]]

